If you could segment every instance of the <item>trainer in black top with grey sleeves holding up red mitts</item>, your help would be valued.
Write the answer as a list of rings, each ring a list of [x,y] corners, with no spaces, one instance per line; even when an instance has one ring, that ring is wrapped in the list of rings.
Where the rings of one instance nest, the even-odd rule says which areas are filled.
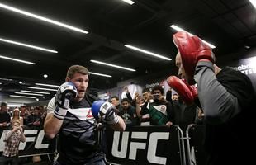
[[[211,48],[196,35],[179,31],[173,35],[173,42],[179,51],[176,56],[178,74],[190,85],[197,82],[198,98],[205,115],[207,164],[255,162],[255,139],[250,138],[255,134],[256,95],[252,82],[244,73],[217,67]],[[175,86],[178,90],[189,91],[184,84]]]

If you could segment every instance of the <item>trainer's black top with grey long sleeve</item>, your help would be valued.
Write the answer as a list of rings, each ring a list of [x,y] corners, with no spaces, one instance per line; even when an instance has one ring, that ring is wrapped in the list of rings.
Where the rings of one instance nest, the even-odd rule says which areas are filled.
[[[208,164],[255,162],[256,99],[252,82],[231,68],[215,75],[211,62],[199,62],[194,78],[205,113]]]

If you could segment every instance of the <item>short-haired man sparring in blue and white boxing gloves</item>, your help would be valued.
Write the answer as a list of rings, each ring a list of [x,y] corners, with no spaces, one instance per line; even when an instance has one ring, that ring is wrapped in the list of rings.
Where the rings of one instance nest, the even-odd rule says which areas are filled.
[[[104,165],[104,154],[97,144],[95,118],[97,115],[114,130],[125,130],[124,121],[114,113],[114,109],[98,106],[97,98],[86,92],[88,69],[80,65],[69,68],[66,82],[48,104],[45,118],[45,135],[54,138],[59,134],[59,165]],[[92,103],[95,101],[93,110]],[[101,102],[107,104],[106,101]],[[96,105],[96,106],[95,106]],[[96,111],[96,112],[95,112]],[[103,114],[103,115],[102,115]],[[96,116],[96,115],[95,115]]]

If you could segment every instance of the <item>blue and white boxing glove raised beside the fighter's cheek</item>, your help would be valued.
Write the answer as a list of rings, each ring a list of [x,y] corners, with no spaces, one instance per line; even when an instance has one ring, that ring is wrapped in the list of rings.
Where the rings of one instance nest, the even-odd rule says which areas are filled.
[[[64,82],[58,89],[55,100],[56,108],[54,115],[59,120],[64,120],[69,109],[69,102],[77,97],[78,91],[73,82]]]

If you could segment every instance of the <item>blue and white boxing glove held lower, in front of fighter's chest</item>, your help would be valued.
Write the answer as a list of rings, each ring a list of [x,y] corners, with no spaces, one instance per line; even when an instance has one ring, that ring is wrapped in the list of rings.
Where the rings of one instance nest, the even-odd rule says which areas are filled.
[[[118,123],[118,117],[115,113],[116,107],[108,101],[94,101],[92,103],[92,115],[96,120],[106,122],[108,125]]]

